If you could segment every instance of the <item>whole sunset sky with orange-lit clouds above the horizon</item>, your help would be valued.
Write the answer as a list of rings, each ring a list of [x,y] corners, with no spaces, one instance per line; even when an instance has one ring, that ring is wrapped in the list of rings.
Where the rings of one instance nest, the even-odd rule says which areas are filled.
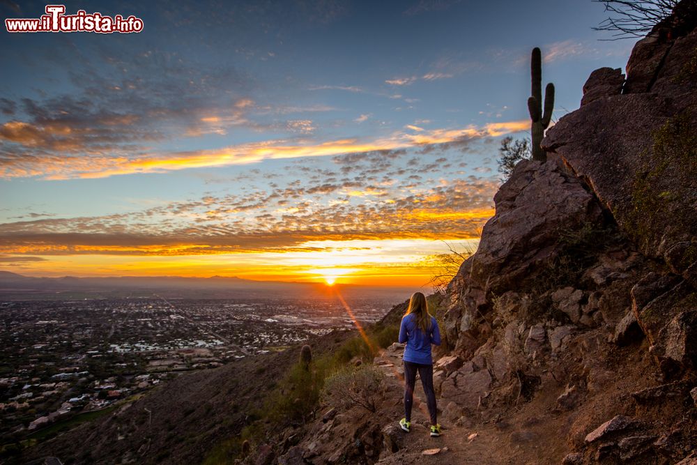
[[[500,139],[529,129],[530,49],[558,119],[633,45],[598,40],[590,0],[79,9],[144,31],[2,26],[0,270],[426,284],[443,241],[475,246],[493,215]]]

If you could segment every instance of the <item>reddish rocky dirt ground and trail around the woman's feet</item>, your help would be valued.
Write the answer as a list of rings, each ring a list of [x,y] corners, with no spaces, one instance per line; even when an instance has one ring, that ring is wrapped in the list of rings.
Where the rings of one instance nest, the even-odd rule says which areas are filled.
[[[406,434],[397,425],[404,416],[404,370],[403,348],[394,344],[374,360],[386,379],[378,411],[369,413],[357,406],[337,413],[327,407],[322,420],[279,463],[680,462],[694,447],[695,409],[689,383],[661,384],[645,341],[612,347],[606,343],[608,337],[613,335],[598,329],[563,337],[555,350],[557,362],[544,370],[539,384],[529,392],[514,390],[505,402],[494,399],[500,392],[485,360],[477,359],[481,366],[472,362],[460,366],[457,357],[441,358],[435,376],[443,425],[439,438],[428,434],[419,383],[412,432]],[[551,349],[549,340],[543,344]],[[565,371],[584,357],[588,361],[582,368],[588,372]],[[620,372],[622,376],[617,376]],[[470,397],[471,404],[448,399],[447,392],[443,397],[444,383],[452,379],[460,379],[459,395]],[[608,421],[611,424],[604,426]]]

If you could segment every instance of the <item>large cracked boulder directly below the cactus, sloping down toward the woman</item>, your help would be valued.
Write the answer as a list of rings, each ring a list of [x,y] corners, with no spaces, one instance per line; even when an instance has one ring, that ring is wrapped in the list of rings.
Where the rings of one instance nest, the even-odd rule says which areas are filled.
[[[445,330],[468,360],[488,335],[482,315],[491,296],[530,287],[563,249],[562,231],[600,227],[602,208],[558,160],[523,160],[494,197],[496,215],[484,225],[477,252],[450,282]]]

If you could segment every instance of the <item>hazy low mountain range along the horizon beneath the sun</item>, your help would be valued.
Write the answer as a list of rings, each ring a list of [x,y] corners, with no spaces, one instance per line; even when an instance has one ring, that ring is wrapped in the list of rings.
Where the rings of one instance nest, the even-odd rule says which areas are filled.
[[[346,297],[384,297],[393,304],[418,290],[356,284],[329,287],[316,282],[254,281],[234,276],[31,277],[0,271],[2,300],[147,297],[155,293],[172,298],[327,298],[339,291]]]

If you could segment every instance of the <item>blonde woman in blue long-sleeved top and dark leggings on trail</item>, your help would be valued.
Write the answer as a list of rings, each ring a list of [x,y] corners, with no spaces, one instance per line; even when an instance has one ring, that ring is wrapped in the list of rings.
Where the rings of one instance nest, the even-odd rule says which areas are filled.
[[[406,342],[404,349],[404,418],[399,426],[411,430],[411,406],[414,399],[416,372],[419,372],[431,416],[431,436],[441,436],[441,425],[436,422],[436,391],[434,390],[434,365],[431,344],[441,345],[438,322],[429,314],[426,296],[415,292],[409,300],[409,308],[401,319],[399,342]]]

